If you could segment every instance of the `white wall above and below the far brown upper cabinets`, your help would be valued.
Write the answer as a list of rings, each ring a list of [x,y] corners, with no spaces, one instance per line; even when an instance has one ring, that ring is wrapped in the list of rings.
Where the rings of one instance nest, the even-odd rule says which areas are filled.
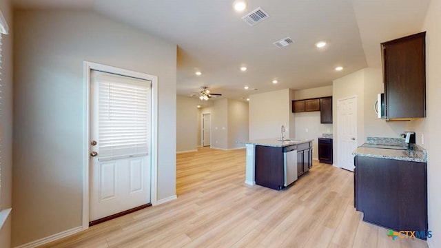
[[[307,90],[296,90],[294,93],[294,100],[332,96],[332,85]],[[320,123],[320,112],[318,111],[294,113],[293,116],[295,123],[294,137],[314,138],[314,141],[312,141],[312,158],[318,159],[318,138],[324,133],[332,133],[332,124]],[[308,132],[306,132],[306,130],[308,130]]]

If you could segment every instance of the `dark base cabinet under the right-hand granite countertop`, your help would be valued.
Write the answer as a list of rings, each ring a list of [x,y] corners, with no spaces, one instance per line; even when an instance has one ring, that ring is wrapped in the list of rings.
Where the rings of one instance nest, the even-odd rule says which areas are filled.
[[[366,156],[354,163],[354,205],[363,220],[427,234],[427,163]]]

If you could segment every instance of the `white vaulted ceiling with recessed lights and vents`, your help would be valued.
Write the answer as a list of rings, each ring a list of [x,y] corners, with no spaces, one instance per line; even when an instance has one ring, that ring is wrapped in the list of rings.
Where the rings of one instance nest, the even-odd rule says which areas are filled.
[[[248,0],[243,12],[232,8],[233,0],[13,2],[16,8],[92,10],[176,43],[178,94],[207,86],[222,99],[240,99],[331,85],[362,68],[380,68],[380,43],[422,31],[430,0]],[[242,17],[258,7],[269,17],[249,26]],[[294,43],[273,44],[285,37]],[[316,48],[318,41],[326,41],[325,48]]]

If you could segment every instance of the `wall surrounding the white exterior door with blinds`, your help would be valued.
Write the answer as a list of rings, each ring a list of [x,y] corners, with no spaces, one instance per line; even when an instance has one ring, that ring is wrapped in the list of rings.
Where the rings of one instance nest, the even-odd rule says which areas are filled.
[[[176,195],[176,45],[86,11],[14,12],[12,245],[81,227],[83,61],[158,76],[158,200]]]

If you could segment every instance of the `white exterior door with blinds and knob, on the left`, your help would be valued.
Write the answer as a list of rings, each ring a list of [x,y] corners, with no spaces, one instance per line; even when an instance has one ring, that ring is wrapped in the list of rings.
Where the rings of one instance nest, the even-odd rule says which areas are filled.
[[[92,70],[90,221],[150,203],[151,82]]]

